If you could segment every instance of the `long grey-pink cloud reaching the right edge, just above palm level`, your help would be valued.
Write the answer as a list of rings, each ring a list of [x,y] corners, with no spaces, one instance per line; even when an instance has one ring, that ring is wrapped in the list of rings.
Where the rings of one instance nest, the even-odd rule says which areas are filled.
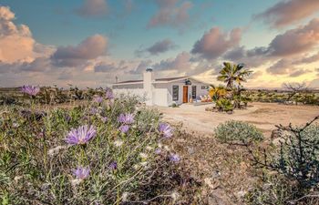
[[[244,46],[235,46],[222,58],[245,63],[248,67],[260,67],[266,63],[277,61],[267,71],[275,75],[282,75],[292,70],[294,65],[318,61],[319,53],[314,56],[306,55],[313,53],[318,45],[319,18],[314,18],[305,26],[298,26],[275,36],[268,46],[256,46],[248,50]],[[289,57],[293,57],[293,60],[288,60]]]

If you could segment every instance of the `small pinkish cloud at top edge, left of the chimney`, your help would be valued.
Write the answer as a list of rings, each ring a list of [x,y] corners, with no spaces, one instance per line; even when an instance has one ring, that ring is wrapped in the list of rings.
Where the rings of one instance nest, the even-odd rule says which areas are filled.
[[[108,4],[106,0],[84,0],[83,5],[77,8],[76,13],[82,17],[97,17],[106,15]]]

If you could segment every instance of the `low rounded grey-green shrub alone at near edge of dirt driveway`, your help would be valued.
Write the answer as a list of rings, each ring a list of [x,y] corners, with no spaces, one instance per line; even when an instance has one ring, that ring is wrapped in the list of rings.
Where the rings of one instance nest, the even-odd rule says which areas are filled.
[[[229,120],[215,128],[215,136],[223,143],[249,144],[263,139],[262,132],[255,126],[242,122]]]

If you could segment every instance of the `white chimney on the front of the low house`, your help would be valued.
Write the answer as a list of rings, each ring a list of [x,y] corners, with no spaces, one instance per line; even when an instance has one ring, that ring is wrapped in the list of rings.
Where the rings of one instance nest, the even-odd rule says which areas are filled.
[[[153,82],[154,79],[154,72],[153,69],[147,68],[146,71],[143,73],[143,87],[144,91],[146,92],[146,105],[152,106],[153,105],[153,91],[154,86]]]

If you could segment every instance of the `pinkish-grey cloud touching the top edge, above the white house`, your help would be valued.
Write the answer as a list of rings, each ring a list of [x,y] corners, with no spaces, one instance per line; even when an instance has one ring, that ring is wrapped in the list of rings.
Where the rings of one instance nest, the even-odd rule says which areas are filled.
[[[190,1],[179,4],[179,0],[155,0],[159,11],[149,20],[148,27],[171,26],[185,27],[189,21]]]

